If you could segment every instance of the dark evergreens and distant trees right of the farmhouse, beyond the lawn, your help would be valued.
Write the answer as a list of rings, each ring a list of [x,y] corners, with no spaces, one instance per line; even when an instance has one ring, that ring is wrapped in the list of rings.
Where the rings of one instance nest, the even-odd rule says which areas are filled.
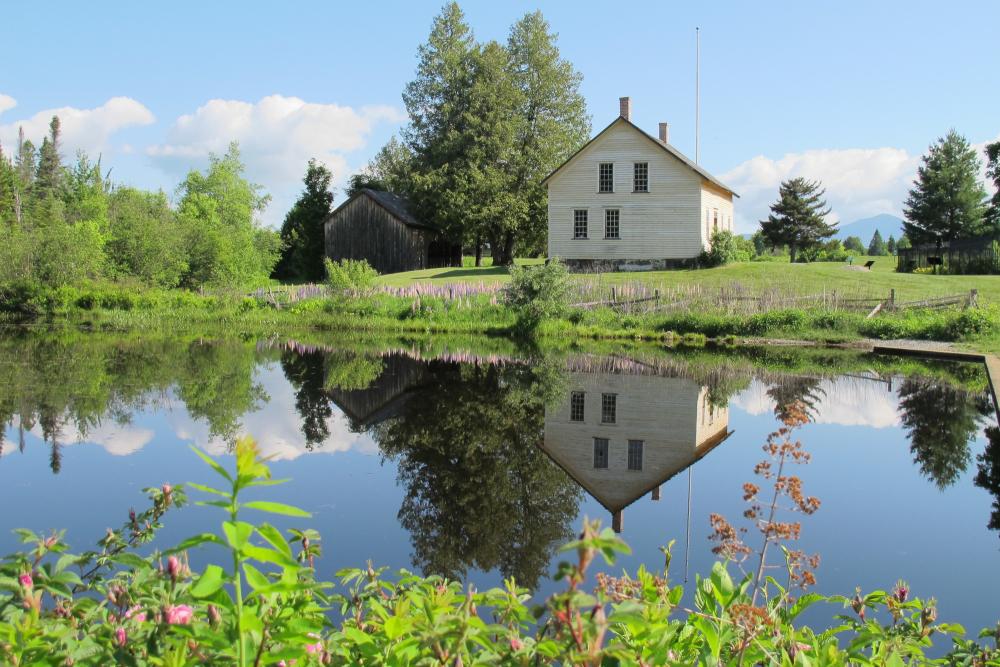
[[[861,239],[845,239],[843,248],[869,255],[893,255],[911,245],[940,244],[962,238],[1000,237],[1000,141],[986,146],[986,175],[996,192],[990,197],[979,178],[982,162],[968,140],[955,130],[939,138],[923,156],[917,178],[904,203],[904,233],[888,241],[877,230],[867,248]],[[761,243],[815,254],[837,232],[827,221],[830,208],[818,181],[783,181],[771,213],[760,222]]]

